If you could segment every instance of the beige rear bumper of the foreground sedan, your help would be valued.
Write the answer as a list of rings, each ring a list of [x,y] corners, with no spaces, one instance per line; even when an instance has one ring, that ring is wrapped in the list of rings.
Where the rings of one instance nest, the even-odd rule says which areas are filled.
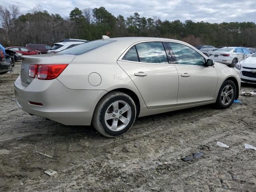
[[[34,79],[26,87],[21,84],[20,76],[14,82],[14,92],[17,105],[25,112],[65,125],[90,125],[96,104],[107,93],[105,90],[71,90],[57,79]]]

